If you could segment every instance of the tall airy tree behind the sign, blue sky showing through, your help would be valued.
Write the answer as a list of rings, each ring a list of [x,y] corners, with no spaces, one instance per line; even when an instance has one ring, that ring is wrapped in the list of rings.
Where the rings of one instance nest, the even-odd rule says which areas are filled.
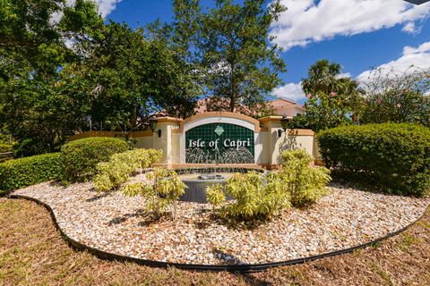
[[[286,8],[280,1],[215,2],[202,9],[199,0],[175,0],[173,23],[156,22],[150,30],[169,39],[203,88],[200,95],[209,96],[209,110],[258,114],[281,83],[278,73],[286,71],[270,36],[271,23]]]

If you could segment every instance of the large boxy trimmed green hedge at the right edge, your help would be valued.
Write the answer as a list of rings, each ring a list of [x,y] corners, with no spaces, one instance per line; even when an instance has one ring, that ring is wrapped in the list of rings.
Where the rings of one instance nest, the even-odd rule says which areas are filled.
[[[430,190],[430,129],[417,124],[344,126],[317,135],[324,162],[348,180],[388,193]]]

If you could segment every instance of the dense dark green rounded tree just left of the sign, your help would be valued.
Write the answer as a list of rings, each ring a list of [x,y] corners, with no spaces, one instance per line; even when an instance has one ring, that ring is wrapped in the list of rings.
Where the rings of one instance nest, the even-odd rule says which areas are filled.
[[[87,95],[91,129],[140,130],[153,114],[193,111],[189,70],[163,38],[109,22],[77,46],[82,62],[66,67],[64,79],[78,90],[70,93]]]

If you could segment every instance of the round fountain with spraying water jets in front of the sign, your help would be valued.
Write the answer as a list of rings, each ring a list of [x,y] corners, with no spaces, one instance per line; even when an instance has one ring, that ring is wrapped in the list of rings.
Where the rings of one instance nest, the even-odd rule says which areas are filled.
[[[245,147],[229,148],[211,153],[200,148],[186,149],[187,163],[199,165],[176,172],[185,185],[182,201],[206,203],[206,188],[214,184],[225,185],[228,178],[235,172],[262,172],[260,169],[244,167],[225,167],[220,164],[254,164],[254,156]]]

